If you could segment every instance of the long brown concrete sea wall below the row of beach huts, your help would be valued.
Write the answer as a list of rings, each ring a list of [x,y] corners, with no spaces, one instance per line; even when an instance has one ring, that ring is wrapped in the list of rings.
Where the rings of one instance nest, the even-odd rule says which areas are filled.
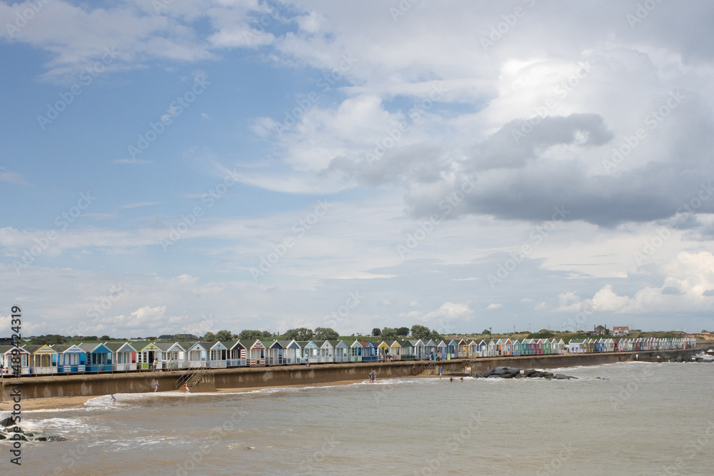
[[[659,350],[638,353],[597,353],[538,355],[523,357],[495,357],[456,359],[443,362],[393,362],[393,363],[342,363],[296,365],[291,367],[230,368],[207,370],[191,391],[210,392],[227,388],[285,387],[288,385],[321,385],[346,380],[366,380],[375,370],[378,378],[433,375],[439,367],[448,374],[471,374],[483,372],[500,365],[521,368],[558,368],[575,365],[598,365],[627,360],[666,361],[679,355],[689,356],[698,352],[689,350]],[[636,356],[636,357],[635,357]],[[4,378],[1,380],[0,401],[10,401],[15,388],[21,389],[23,399],[69,396],[109,395],[110,393],[145,393],[154,391],[159,382],[159,391],[176,390],[176,381],[181,373],[134,372],[121,374],[50,375],[29,378]],[[178,390],[183,390],[183,387]]]

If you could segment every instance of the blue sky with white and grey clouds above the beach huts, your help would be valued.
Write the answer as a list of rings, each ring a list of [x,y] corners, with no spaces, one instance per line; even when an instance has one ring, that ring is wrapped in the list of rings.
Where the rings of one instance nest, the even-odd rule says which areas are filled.
[[[713,22],[0,0],[0,335],[711,329]]]

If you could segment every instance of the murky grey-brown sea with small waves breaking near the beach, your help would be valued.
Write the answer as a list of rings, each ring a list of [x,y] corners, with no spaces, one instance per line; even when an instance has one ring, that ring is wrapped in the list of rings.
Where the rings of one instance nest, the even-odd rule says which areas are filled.
[[[578,380],[414,378],[96,397],[24,412],[3,475],[711,475],[714,364],[559,369]],[[2,414],[0,417],[6,415]]]

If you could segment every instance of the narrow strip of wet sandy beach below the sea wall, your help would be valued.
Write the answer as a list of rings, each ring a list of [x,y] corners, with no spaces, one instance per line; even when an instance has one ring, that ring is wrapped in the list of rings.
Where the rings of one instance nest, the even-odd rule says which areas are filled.
[[[385,377],[378,380],[393,380],[395,378],[405,378],[405,377]],[[413,375],[406,378],[435,378],[433,375]],[[318,387],[331,387],[333,385],[354,385],[356,383],[366,382],[367,379],[360,380],[339,380],[336,382],[329,383],[304,383],[304,384],[294,384],[294,385],[281,385],[279,387],[273,385],[261,385],[258,387],[240,387],[240,388],[221,388],[214,390],[212,392],[195,392],[192,395],[221,395],[223,393],[247,393],[253,392],[255,390],[265,390],[267,388],[281,389],[281,388],[318,388]],[[154,392],[145,392],[154,393]],[[174,395],[186,395],[183,390],[167,390],[164,392],[158,392],[159,394],[174,394]],[[106,394],[109,395],[109,394]],[[81,395],[74,397],[41,397],[41,398],[27,398],[22,400],[22,410],[65,410],[67,408],[76,408],[76,410],[81,410],[86,402],[94,398],[103,397],[106,395]],[[135,393],[115,393],[116,395],[136,395]],[[12,410],[13,402],[0,402],[0,414],[2,412],[10,412]]]

